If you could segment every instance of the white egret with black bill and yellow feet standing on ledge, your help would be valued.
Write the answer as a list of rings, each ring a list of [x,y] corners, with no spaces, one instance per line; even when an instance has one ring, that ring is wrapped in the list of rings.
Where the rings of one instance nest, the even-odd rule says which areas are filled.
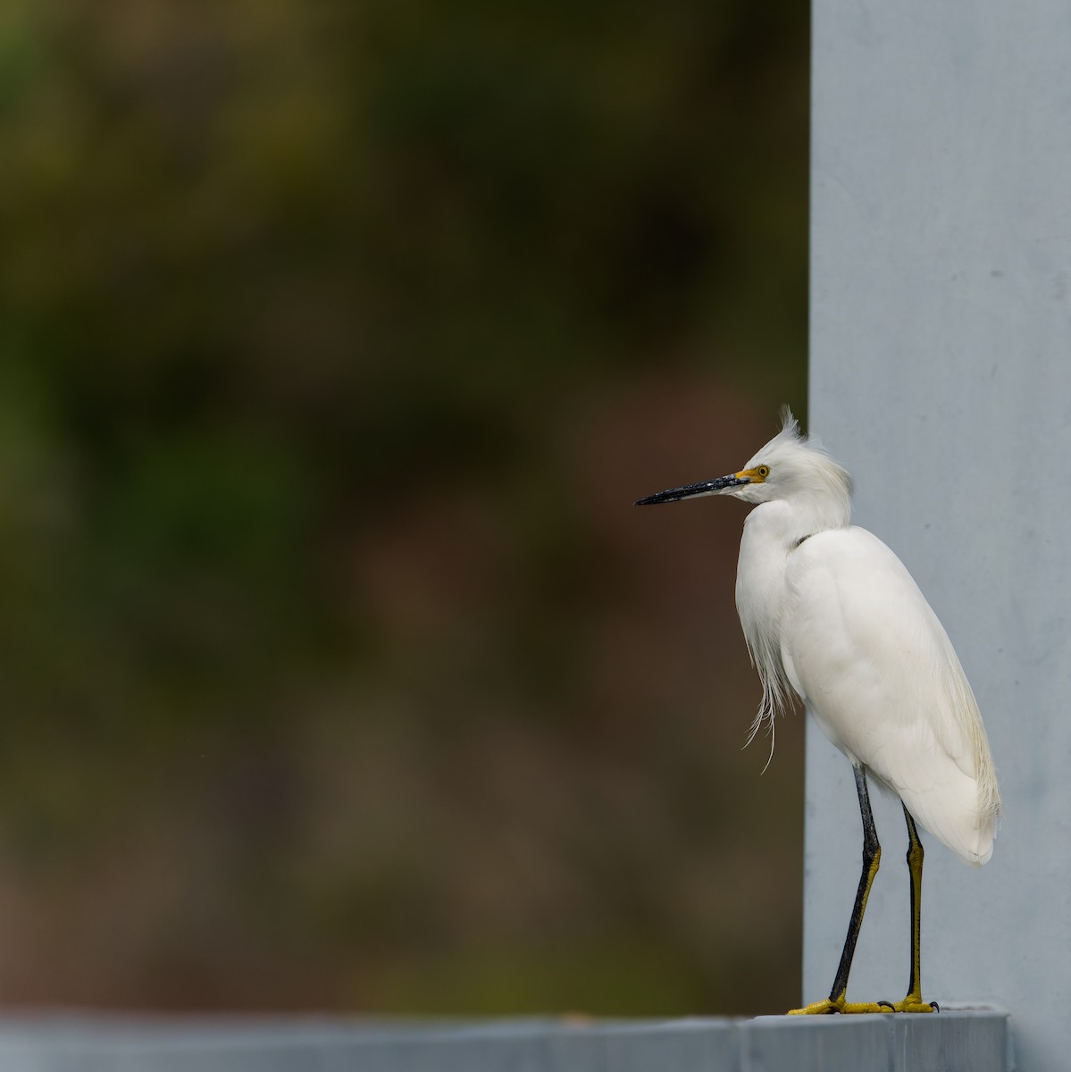
[[[907,567],[851,523],[852,479],[786,406],[780,431],[728,476],[670,488],[638,506],[703,495],[754,505],[744,521],[737,610],[762,699],[752,736],[798,697],[851,763],[863,867],[828,998],[792,1014],[929,1013],[921,988],[923,847],[918,827],[967,864],[993,854],[1001,815],[975,694],[948,634]],[[748,739],[750,740],[750,738]],[[911,966],[903,1001],[849,1002],[848,976],[881,846],[868,783],[907,822]]]

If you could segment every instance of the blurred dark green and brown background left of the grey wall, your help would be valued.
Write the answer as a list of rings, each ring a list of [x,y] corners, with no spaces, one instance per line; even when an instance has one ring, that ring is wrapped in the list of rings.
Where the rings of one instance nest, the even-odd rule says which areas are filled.
[[[0,15],[0,1000],[779,1011],[732,606],[805,5]]]

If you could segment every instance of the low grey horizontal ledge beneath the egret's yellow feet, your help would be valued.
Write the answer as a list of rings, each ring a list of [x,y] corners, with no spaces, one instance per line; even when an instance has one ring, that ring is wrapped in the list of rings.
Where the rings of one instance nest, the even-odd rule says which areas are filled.
[[[4,1072],[1010,1072],[1008,1016],[0,1021]]]

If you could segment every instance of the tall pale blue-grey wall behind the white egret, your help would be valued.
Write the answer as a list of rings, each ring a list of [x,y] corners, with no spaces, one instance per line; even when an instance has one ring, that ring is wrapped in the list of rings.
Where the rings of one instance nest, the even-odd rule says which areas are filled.
[[[815,0],[810,426],[975,687],[1007,818],[981,870],[924,835],[923,991],[1012,1013],[1067,1069],[1071,1009],[1071,3]],[[804,996],[859,872],[848,764],[808,728]],[[906,835],[849,985],[903,996]]]

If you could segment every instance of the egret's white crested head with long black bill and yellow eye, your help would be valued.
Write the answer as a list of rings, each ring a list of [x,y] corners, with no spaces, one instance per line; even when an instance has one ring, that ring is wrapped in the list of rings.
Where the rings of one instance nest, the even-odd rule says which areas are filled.
[[[782,411],[780,431],[739,472],[659,491],[636,505],[675,503],[700,495],[732,495],[745,503],[785,500],[801,506],[822,505],[847,517],[851,510],[851,477],[819,444],[800,432],[799,423],[786,406]],[[847,524],[847,520],[843,523]]]

